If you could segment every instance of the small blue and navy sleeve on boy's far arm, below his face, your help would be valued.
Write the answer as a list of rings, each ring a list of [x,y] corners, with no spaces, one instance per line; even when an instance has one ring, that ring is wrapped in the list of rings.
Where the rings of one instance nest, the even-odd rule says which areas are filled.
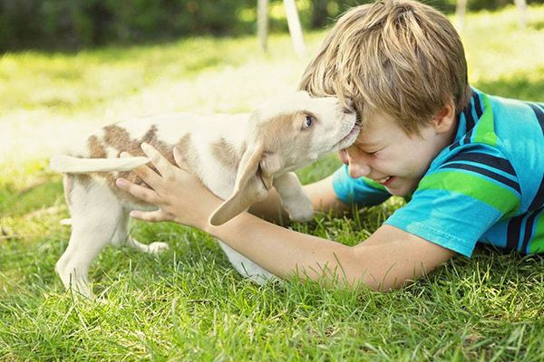
[[[345,165],[338,168],[333,175],[333,188],[342,202],[358,206],[379,205],[391,196],[384,186],[369,178],[349,176]]]

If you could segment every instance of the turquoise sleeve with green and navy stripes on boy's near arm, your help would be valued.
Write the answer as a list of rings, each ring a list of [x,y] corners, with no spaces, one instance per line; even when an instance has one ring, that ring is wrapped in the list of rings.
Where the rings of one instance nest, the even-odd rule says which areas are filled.
[[[508,159],[460,154],[423,176],[412,200],[385,224],[470,257],[493,224],[517,212],[520,194]]]

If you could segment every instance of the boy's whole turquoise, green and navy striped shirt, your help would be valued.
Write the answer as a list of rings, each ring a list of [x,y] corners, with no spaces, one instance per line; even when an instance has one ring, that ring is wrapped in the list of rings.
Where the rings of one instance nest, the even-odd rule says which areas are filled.
[[[471,256],[476,243],[544,252],[544,104],[472,90],[455,139],[434,158],[411,200],[385,224]],[[377,205],[383,186],[333,177],[345,203]]]

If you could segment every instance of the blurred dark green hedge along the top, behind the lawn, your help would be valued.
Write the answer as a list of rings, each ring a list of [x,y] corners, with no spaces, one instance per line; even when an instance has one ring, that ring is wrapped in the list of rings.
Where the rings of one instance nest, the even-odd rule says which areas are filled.
[[[461,0],[471,11],[497,10],[512,0]],[[542,4],[544,0],[527,0]],[[322,29],[358,0],[297,0],[303,27]],[[452,13],[457,0],[432,0]],[[282,0],[269,1],[270,30],[284,32]],[[2,0],[0,51],[80,50],[104,44],[149,43],[194,35],[257,31],[256,0]]]

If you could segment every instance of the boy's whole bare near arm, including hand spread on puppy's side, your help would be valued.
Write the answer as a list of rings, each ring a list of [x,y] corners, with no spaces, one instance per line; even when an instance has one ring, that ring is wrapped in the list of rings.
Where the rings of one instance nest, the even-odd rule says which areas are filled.
[[[132,217],[198,227],[277,276],[298,274],[329,284],[340,281],[356,287],[362,283],[389,290],[432,271],[453,255],[442,246],[390,225],[380,227],[366,242],[356,246],[296,233],[247,212],[226,224],[212,226],[208,223],[209,215],[222,200],[196,176],[172,166],[151,146],[142,145],[142,149],[160,172],[157,174],[150,167],[135,170],[151,189],[123,179],[118,179],[117,185],[158,209],[132,211]]]

